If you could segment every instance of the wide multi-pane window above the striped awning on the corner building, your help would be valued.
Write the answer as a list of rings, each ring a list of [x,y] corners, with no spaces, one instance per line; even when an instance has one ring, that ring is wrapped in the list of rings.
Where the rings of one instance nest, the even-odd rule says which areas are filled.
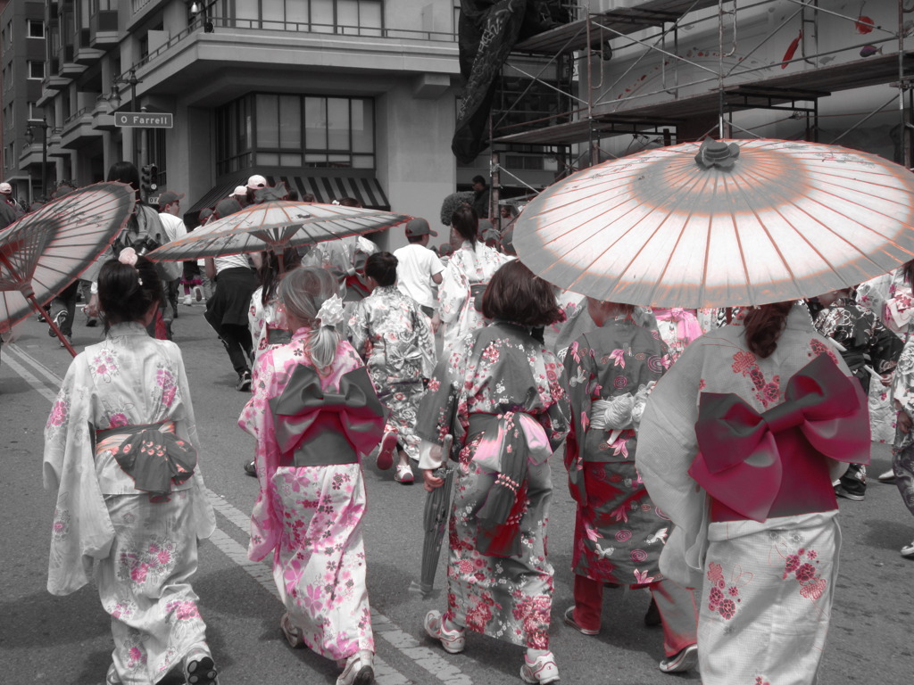
[[[217,174],[269,167],[375,167],[370,98],[258,93],[218,109]]]

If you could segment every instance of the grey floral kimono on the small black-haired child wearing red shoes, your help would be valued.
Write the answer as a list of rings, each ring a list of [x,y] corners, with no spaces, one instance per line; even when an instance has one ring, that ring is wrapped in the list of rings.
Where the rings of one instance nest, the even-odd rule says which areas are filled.
[[[435,368],[435,340],[429,317],[397,286],[379,286],[356,304],[349,319],[349,340],[365,360],[377,396],[390,410],[399,443],[410,458],[419,458],[416,415],[423,378]]]

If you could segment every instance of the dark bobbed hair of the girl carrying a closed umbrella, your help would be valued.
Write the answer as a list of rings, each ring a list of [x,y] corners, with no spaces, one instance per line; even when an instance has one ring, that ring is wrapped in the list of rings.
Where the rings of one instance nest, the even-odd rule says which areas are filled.
[[[562,321],[556,289],[516,259],[495,271],[483,295],[483,315],[537,328]]]

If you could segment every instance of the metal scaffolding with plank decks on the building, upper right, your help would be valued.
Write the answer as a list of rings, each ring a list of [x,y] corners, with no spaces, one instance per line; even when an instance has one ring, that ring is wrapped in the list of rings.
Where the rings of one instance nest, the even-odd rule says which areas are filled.
[[[591,9],[600,2],[613,6]],[[858,16],[843,15],[819,0],[590,3],[575,8],[577,18],[569,24],[518,43],[508,62],[536,57],[547,64],[572,64],[572,78],[549,84],[567,89],[569,109],[520,125],[494,119],[493,150],[517,144],[576,149],[563,170],[569,174],[622,156],[605,143],[625,134],[664,145],[707,135],[761,137],[735,118],[738,112],[759,110],[782,111],[779,121],[802,121],[795,136],[818,141],[819,100],[889,85],[897,94],[870,111],[855,112],[857,121],[824,142],[839,142],[877,114],[897,110],[898,161],[911,167],[914,51],[905,42],[914,34],[914,3],[906,7],[905,0],[868,0],[858,5]],[[865,7],[884,20],[864,15]],[[684,43],[694,43],[695,35],[714,37],[713,48],[686,49]],[[788,37],[794,38],[783,58],[777,58],[772,50]],[[859,50],[859,57],[849,50]],[[632,79],[635,85],[623,88]],[[498,153],[493,153],[491,168],[497,191],[497,179],[505,173]]]

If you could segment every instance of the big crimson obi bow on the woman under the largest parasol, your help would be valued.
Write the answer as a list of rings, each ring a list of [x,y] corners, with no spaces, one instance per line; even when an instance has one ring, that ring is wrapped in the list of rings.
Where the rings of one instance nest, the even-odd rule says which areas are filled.
[[[794,374],[784,395],[781,405],[761,414],[739,395],[701,395],[699,452],[689,475],[717,501],[754,521],[769,517],[788,450],[812,449],[844,462],[869,454],[866,395],[826,355]]]

